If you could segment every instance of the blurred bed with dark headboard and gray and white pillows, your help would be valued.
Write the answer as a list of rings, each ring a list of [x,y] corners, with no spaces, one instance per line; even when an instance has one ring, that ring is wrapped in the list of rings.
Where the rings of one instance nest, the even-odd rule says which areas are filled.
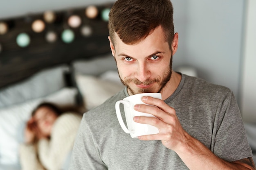
[[[40,102],[82,114],[124,88],[110,53],[108,22],[101,15],[111,5],[94,6],[99,14],[93,19],[85,16],[87,7],[56,11],[56,22],[46,23],[41,33],[31,30],[31,23],[43,20],[43,13],[0,20],[9,26],[0,34],[0,170],[20,169],[18,146],[25,123]],[[71,15],[81,17],[81,26],[67,25]],[[90,35],[81,34],[83,26],[91,29]],[[73,31],[72,42],[63,41],[65,29]],[[49,30],[58,35],[55,42],[45,41]],[[19,33],[30,36],[29,46],[18,46]]]

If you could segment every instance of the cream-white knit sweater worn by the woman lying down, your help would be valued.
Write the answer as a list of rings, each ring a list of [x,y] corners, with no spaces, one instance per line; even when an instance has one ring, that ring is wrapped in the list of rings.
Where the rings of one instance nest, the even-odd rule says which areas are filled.
[[[22,170],[61,170],[67,154],[73,148],[81,118],[75,113],[63,113],[54,123],[50,140],[41,139],[37,147],[21,144]]]

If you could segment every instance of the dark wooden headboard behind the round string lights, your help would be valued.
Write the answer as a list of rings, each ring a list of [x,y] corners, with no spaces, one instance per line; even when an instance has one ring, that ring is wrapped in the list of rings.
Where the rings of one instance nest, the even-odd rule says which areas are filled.
[[[57,11],[56,20],[52,24],[45,23],[45,30],[36,33],[31,28],[31,23],[36,19],[43,20],[43,13],[27,15],[18,18],[1,20],[9,26],[9,31],[0,34],[0,89],[16,83],[42,70],[61,63],[70,64],[76,59],[88,59],[101,54],[110,53],[108,41],[108,22],[101,18],[101,11],[111,8],[112,4],[97,5],[99,14],[94,19],[85,16],[85,8],[68,9]],[[67,24],[70,15],[79,15],[83,25],[92,28],[92,35],[85,37],[81,35],[81,26],[71,28]],[[65,43],[61,39],[61,33],[65,28],[71,29],[75,39],[71,43]],[[58,39],[54,43],[45,40],[45,34],[54,30]],[[30,36],[29,46],[22,48],[16,43],[16,37],[20,33]]]

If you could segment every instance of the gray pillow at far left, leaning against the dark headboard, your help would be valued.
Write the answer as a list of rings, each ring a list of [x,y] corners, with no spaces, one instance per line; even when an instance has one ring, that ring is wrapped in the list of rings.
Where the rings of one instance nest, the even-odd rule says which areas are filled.
[[[0,90],[0,108],[47,96],[66,86],[67,65],[42,70],[20,83]]]

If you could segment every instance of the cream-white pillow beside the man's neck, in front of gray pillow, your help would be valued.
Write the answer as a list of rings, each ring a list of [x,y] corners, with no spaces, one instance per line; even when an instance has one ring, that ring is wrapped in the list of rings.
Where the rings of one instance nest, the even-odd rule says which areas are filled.
[[[117,74],[118,77],[118,74]],[[83,97],[83,106],[90,110],[124,88],[121,81],[110,81],[96,76],[76,74],[76,84]]]

